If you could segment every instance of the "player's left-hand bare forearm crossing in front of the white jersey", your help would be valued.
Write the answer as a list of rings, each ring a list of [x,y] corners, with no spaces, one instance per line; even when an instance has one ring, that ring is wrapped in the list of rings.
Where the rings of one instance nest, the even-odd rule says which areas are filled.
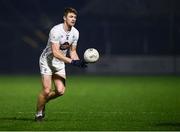
[[[54,57],[58,58],[59,60],[64,61],[65,63],[71,63],[72,59],[63,55],[63,53],[59,50],[60,45],[56,43],[51,44],[52,53]]]

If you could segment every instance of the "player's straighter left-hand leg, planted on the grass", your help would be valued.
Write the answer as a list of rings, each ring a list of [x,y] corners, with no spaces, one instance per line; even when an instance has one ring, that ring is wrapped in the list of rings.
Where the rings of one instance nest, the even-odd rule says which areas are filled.
[[[45,108],[46,100],[51,90],[51,79],[51,75],[42,75],[42,91],[38,96],[36,117],[43,117],[43,109]]]

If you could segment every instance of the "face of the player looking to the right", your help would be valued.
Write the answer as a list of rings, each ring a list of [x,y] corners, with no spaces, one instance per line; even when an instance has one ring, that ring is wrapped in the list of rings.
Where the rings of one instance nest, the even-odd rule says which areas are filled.
[[[76,14],[68,13],[67,16],[64,17],[64,20],[68,26],[74,26],[76,23]]]

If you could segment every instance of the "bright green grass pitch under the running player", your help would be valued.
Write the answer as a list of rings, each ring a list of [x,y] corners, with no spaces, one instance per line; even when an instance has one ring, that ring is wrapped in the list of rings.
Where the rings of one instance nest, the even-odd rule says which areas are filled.
[[[34,122],[39,76],[0,76],[0,130],[180,130],[178,76],[69,76]]]

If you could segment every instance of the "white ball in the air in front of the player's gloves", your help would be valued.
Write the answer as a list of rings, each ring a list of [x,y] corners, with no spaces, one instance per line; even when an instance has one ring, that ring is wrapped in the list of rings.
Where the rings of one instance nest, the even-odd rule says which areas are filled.
[[[99,52],[94,48],[88,48],[84,52],[84,60],[88,63],[94,63],[99,59]]]

